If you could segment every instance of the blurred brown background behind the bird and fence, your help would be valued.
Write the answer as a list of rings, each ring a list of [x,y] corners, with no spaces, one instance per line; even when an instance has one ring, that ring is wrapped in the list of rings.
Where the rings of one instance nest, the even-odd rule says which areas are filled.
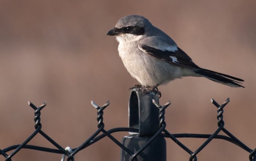
[[[128,88],[138,84],[121,62],[114,37],[106,32],[129,14],[143,15],[170,35],[193,61],[245,80],[231,88],[205,78],[187,77],[159,87],[171,133],[212,134],[217,129],[214,98],[225,107],[226,129],[254,149],[256,96],[255,0],[23,0],[0,1],[0,149],[20,144],[34,131],[36,106],[42,130],[61,146],[78,147],[97,130],[96,110],[105,110],[106,129],[127,127]],[[114,134],[119,140],[127,133]],[[196,150],[205,139],[180,139]],[[40,135],[31,145],[54,148]],[[10,152],[8,152],[10,154]],[[212,141],[200,161],[248,160],[249,153],[222,140]],[[75,160],[118,161],[120,149],[108,138],[79,152]],[[60,154],[22,149],[14,161],[56,161]],[[169,161],[189,155],[167,141]],[[0,156],[0,160],[4,160]]]

